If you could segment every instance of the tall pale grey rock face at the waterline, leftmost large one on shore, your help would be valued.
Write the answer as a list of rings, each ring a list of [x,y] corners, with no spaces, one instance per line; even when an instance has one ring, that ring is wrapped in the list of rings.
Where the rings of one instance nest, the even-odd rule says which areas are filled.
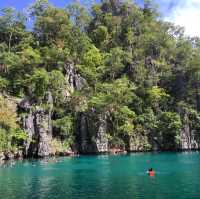
[[[28,99],[19,104],[19,108],[25,111],[22,126],[28,134],[28,140],[24,143],[25,156],[45,157],[51,154],[53,103],[50,93],[47,93],[45,101],[48,106],[47,110],[33,106]]]

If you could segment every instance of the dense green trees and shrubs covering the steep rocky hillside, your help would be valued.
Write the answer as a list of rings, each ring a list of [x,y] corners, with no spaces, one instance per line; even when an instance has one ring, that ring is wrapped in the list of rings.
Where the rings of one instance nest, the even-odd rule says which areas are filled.
[[[54,101],[53,127],[63,142],[74,142],[80,112],[107,115],[112,146],[138,134],[156,137],[163,148],[179,145],[185,125],[200,128],[200,40],[162,21],[151,1],[103,0],[91,12],[79,4],[56,8],[38,0],[26,17],[0,12],[0,92],[41,105]],[[71,91],[65,65],[87,81]],[[42,102],[44,103],[44,102]],[[94,111],[93,111],[94,114]],[[26,134],[15,109],[0,98],[0,150],[20,146]]]

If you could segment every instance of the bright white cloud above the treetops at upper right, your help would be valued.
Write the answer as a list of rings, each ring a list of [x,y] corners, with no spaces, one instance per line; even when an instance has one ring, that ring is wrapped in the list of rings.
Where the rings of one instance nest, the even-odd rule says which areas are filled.
[[[200,37],[200,0],[178,1],[165,20],[185,27],[189,36]]]

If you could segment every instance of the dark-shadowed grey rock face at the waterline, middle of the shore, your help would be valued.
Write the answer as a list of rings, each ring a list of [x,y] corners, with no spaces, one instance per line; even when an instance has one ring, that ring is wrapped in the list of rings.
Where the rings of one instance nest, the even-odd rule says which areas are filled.
[[[106,135],[106,117],[97,118],[88,114],[81,114],[78,119],[78,144],[80,153],[108,152],[108,138]]]

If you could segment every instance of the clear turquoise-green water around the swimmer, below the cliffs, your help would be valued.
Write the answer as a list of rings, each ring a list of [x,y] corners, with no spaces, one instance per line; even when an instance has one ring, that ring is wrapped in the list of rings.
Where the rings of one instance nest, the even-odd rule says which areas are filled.
[[[82,156],[0,168],[1,199],[200,199],[200,153]],[[155,177],[145,173],[148,167]]]

